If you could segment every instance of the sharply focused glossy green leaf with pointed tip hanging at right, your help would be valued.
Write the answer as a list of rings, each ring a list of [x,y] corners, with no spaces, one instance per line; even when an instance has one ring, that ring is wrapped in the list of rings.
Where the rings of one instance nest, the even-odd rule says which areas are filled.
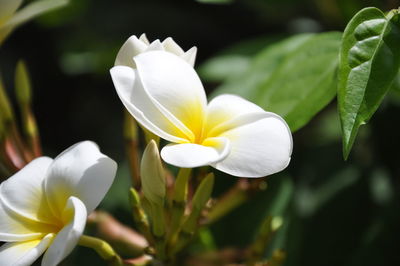
[[[343,156],[349,156],[361,125],[389,90],[400,64],[400,16],[365,8],[347,25],[341,46],[338,104]]]

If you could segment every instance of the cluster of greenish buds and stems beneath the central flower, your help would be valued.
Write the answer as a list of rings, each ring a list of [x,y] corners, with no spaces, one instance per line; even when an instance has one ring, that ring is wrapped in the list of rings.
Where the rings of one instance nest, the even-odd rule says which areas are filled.
[[[192,241],[198,233],[207,231],[208,227],[227,215],[234,208],[249,200],[257,192],[267,188],[265,178],[239,179],[237,184],[218,197],[212,196],[214,174],[205,172],[204,168],[193,171],[191,168],[180,168],[173,176],[160,158],[157,142],[148,131],[147,146],[143,151],[141,162],[138,158],[138,130],[135,121],[127,114],[125,120],[125,137],[127,151],[131,162],[131,174],[134,187],[130,189],[130,204],[135,229],[140,237],[132,238],[131,245],[139,246],[134,265],[153,265],[151,263],[187,264],[187,265],[225,265],[245,263],[246,265],[281,265],[285,253],[275,250],[268,260],[264,252],[283,220],[279,216],[268,216],[260,225],[257,238],[247,248],[223,249],[210,254],[195,254],[184,259]],[[129,138],[131,132],[131,138]],[[132,147],[136,147],[133,150]],[[133,162],[133,164],[132,164]],[[137,168],[139,166],[139,168]],[[138,171],[139,170],[139,171]],[[197,182],[196,182],[197,181]],[[136,243],[136,244],[135,244]],[[185,256],[184,256],[185,257]],[[178,261],[177,261],[178,260]],[[138,263],[140,261],[140,263]],[[143,263],[143,264],[141,264]],[[203,263],[203,264],[201,264]],[[158,264],[157,264],[158,265]]]

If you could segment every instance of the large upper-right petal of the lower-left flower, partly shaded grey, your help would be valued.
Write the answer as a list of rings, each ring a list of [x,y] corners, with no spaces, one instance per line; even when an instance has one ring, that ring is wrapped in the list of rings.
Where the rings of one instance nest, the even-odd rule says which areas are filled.
[[[57,156],[45,180],[47,201],[55,216],[69,197],[79,198],[87,211],[93,211],[114,181],[117,164],[102,154],[91,141],[77,143]]]

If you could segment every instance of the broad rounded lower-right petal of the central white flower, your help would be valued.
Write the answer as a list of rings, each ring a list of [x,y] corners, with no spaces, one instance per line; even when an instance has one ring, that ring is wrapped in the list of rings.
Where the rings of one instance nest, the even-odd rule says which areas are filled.
[[[220,136],[230,140],[231,150],[222,161],[211,164],[228,174],[262,177],[286,168],[292,153],[292,135],[286,122],[273,113],[245,115],[246,121]],[[264,118],[260,118],[260,117]]]

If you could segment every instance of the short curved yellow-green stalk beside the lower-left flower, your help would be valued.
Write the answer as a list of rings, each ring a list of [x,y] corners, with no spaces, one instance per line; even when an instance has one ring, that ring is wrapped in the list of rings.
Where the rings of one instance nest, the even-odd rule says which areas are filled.
[[[96,237],[82,235],[79,239],[79,245],[93,249],[105,261],[110,262],[114,266],[123,266],[121,257],[114,251],[114,249],[105,242]]]

